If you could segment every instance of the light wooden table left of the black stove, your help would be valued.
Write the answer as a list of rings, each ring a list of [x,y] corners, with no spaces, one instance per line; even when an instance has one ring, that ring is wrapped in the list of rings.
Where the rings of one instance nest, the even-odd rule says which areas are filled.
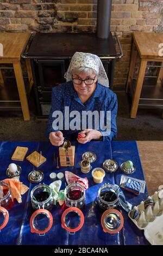
[[[0,43],[3,45],[3,56],[0,56],[0,63],[11,63],[14,67],[15,78],[17,82],[18,94],[20,96],[20,102],[23,112],[24,120],[30,120],[29,108],[26,96],[26,90],[24,87],[22,69],[21,69],[21,53],[26,45],[30,33],[1,33]],[[30,68],[29,59],[26,59],[28,79],[30,88],[33,85],[32,70]],[[4,86],[3,75],[0,69],[0,82],[1,86]]]

